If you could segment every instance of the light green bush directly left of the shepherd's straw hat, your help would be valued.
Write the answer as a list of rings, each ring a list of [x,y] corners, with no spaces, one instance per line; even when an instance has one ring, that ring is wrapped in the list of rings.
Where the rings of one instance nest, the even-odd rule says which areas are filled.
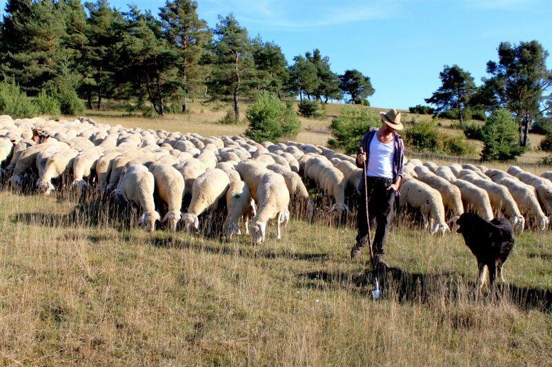
[[[332,120],[330,127],[333,138],[328,140],[328,145],[334,149],[344,148],[346,154],[354,154],[368,129],[380,125],[380,115],[371,109],[359,105],[345,105],[342,113]]]

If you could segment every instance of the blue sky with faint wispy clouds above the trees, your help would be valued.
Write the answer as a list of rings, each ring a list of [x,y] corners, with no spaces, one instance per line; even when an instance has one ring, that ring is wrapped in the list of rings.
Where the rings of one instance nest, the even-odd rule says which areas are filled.
[[[375,107],[425,104],[444,65],[459,65],[480,85],[501,41],[535,39],[552,52],[551,0],[197,1],[211,28],[217,15],[233,12],[251,37],[279,45],[288,62],[318,48],[333,72],[359,70],[371,78]],[[131,2],[157,14],[165,0],[110,0],[122,11]]]

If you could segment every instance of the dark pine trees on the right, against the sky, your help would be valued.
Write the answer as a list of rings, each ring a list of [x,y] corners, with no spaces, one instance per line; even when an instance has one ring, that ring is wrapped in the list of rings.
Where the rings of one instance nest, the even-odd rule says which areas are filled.
[[[457,118],[462,129],[466,118],[484,120],[506,109],[517,123],[519,144],[525,147],[530,127],[552,126],[552,70],[546,69],[549,53],[538,41],[502,42],[497,52],[498,61],[486,64],[489,77],[482,78],[482,85],[476,87],[462,67],[445,65],[439,74],[442,85],[425,101],[436,106],[435,114]],[[411,110],[429,112],[420,105]]]

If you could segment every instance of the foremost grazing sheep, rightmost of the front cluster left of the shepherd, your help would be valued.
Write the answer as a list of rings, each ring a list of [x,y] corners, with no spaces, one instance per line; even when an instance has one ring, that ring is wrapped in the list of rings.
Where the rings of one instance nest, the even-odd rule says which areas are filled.
[[[255,244],[260,244],[266,239],[266,223],[277,217],[276,238],[280,240],[282,234],[280,226],[286,226],[289,220],[289,191],[286,188],[284,178],[273,171],[268,171],[262,176],[257,188],[259,209],[251,223],[251,235]]]

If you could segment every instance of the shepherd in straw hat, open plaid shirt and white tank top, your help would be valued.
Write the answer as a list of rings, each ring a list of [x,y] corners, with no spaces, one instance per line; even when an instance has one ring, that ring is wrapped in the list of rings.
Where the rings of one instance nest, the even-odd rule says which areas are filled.
[[[374,264],[387,267],[382,260],[387,227],[393,218],[393,205],[398,195],[403,176],[404,143],[395,130],[402,130],[401,114],[396,109],[387,113],[380,112],[382,127],[372,127],[362,138],[357,154],[357,167],[364,167],[366,177],[360,180],[361,192],[358,200],[357,238],[351,249],[351,258],[355,258],[368,241],[368,221],[366,220],[366,198],[364,185],[368,189],[368,215],[375,218],[377,228],[373,242]]]

